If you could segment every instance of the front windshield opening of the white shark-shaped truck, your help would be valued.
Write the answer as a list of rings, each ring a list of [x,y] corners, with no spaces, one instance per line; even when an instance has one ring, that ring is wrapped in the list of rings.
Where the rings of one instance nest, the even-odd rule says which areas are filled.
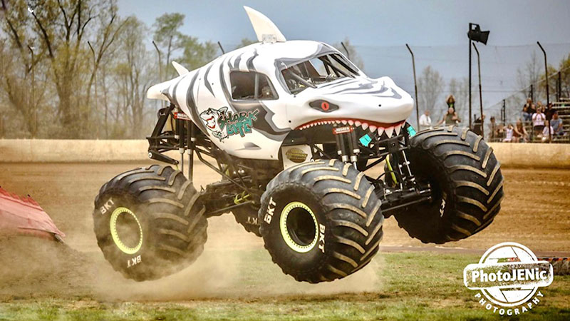
[[[339,54],[325,54],[297,63],[281,71],[291,93],[299,93],[307,87],[316,88],[321,83],[358,75],[351,63]]]

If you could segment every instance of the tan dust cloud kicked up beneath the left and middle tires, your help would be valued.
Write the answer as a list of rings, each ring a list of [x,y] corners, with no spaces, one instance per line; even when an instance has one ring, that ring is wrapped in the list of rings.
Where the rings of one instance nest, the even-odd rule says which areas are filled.
[[[173,275],[145,282],[128,280],[115,272],[100,251],[79,252],[73,244],[68,247],[31,237],[1,240],[0,300],[90,297],[101,301],[166,301],[378,290],[380,255],[354,275],[311,285],[284,275],[271,263],[261,238],[242,230],[231,215],[211,218],[209,226],[209,240],[195,263]],[[89,235],[85,238],[92,239]],[[78,244],[89,242],[77,237],[74,240]]]

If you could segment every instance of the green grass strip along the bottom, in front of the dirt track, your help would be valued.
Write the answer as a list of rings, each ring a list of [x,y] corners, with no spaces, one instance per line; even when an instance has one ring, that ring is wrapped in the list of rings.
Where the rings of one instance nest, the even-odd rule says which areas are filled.
[[[380,253],[368,292],[271,294],[271,287],[295,285],[267,263],[261,250],[246,251],[249,271],[224,291],[225,299],[184,302],[100,302],[90,298],[10,300],[0,303],[0,320],[495,320],[462,282],[462,270],[477,255]],[[364,271],[362,271],[364,272]],[[281,282],[286,280],[287,282]],[[269,294],[268,292],[269,287]],[[247,288],[249,295],[245,293]],[[294,288],[292,288],[292,292]],[[570,276],[542,288],[544,300],[513,320],[570,320]],[[252,295],[252,293],[254,293]],[[259,293],[256,295],[255,293]]]

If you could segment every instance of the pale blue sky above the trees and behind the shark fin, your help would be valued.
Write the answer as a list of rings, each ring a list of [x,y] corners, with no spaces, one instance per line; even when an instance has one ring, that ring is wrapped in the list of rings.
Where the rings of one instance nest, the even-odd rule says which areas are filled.
[[[480,24],[491,31],[488,46],[480,46],[488,106],[517,88],[517,68],[533,51],[541,54],[537,41],[555,66],[570,53],[570,1],[119,0],[121,15],[134,14],[148,26],[166,12],[185,14],[183,33],[220,41],[226,49],[255,39],[243,5],[268,16],[287,39],[334,43],[348,36],[369,76],[391,76],[408,91],[413,76],[406,43],[415,51],[418,73],[431,65],[448,82],[467,76],[468,24]],[[475,83],[475,65],[473,72]]]

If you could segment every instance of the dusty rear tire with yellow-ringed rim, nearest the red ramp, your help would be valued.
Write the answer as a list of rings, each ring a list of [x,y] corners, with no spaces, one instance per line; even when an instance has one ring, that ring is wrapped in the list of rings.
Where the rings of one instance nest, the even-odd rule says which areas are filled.
[[[133,280],[155,280],[190,265],[204,249],[199,193],[180,170],[150,165],[115,176],[95,198],[99,248]]]

